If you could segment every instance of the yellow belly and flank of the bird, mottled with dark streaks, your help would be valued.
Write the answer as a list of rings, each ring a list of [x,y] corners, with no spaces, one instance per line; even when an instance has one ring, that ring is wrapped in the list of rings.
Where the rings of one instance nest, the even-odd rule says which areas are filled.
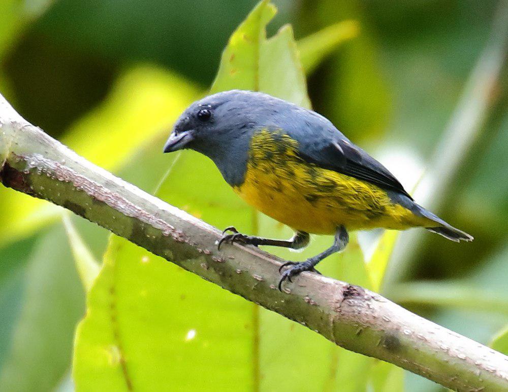
[[[257,146],[257,141],[263,141]],[[270,140],[273,141],[273,140]],[[247,203],[295,230],[333,234],[348,230],[407,229],[424,226],[425,219],[394,204],[379,187],[332,170],[309,164],[291,146],[277,151],[253,140],[245,181],[234,190]],[[267,159],[269,158],[269,159]]]

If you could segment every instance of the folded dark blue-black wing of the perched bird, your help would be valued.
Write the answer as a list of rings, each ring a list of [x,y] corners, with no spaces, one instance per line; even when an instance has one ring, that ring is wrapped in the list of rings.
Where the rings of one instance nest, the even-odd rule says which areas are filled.
[[[367,181],[380,188],[399,192],[411,200],[395,176],[360,147],[355,146],[339,131],[321,134],[319,140],[312,142],[300,140],[299,155],[307,162],[334,170],[339,173]],[[309,142],[310,141],[310,142]]]

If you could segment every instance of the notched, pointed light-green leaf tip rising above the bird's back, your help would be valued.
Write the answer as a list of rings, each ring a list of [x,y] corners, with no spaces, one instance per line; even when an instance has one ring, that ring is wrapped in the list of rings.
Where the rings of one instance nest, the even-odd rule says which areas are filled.
[[[262,1],[233,33],[211,93],[232,89],[263,91],[310,107],[292,27],[285,25],[272,38],[266,38],[266,25],[275,13],[275,6]]]

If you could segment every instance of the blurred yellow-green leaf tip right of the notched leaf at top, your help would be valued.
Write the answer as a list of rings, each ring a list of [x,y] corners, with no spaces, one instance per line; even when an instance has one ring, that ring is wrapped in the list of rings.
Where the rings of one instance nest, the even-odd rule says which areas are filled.
[[[298,41],[300,59],[306,74],[330,55],[340,44],[358,35],[359,24],[354,20],[332,24]]]

